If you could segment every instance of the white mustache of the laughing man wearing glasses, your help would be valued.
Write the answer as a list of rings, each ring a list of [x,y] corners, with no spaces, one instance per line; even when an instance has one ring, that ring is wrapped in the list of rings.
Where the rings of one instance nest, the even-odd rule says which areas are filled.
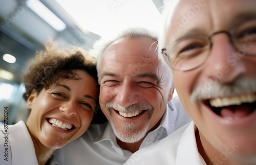
[[[199,100],[253,92],[256,92],[256,78],[239,77],[229,84],[221,84],[218,81],[206,82],[193,90],[190,101],[197,103]]]

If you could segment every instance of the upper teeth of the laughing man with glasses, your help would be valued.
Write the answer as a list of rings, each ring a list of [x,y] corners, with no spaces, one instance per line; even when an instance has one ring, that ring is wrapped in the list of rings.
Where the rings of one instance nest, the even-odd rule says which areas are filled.
[[[256,95],[244,94],[244,95],[234,96],[234,97],[216,98],[216,99],[211,99],[209,101],[210,101],[210,105],[214,107],[240,105],[242,103],[252,103],[256,101]]]

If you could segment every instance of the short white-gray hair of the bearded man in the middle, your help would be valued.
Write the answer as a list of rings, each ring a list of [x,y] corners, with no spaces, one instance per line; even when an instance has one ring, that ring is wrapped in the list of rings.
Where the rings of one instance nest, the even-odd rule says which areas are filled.
[[[97,57],[97,72],[98,72],[98,83],[100,84],[101,77],[100,77],[100,67],[101,67],[101,59],[103,56],[103,52],[106,48],[108,48],[113,42],[121,39],[121,38],[140,38],[140,37],[147,37],[150,38],[156,42],[158,42],[158,34],[156,32],[151,32],[145,28],[128,28],[121,33],[117,34],[112,39],[104,39],[101,38],[100,40],[96,41],[93,45],[93,50],[90,51],[90,53],[93,54],[93,56]],[[168,74],[170,76],[170,87],[173,88],[173,73],[169,69],[169,67],[165,67],[165,69],[168,71]]]

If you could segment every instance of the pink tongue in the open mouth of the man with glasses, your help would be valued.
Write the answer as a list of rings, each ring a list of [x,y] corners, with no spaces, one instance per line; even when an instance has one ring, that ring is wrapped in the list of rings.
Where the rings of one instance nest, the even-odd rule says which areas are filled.
[[[221,109],[220,115],[227,118],[242,118],[250,114],[250,112],[251,107],[248,105],[228,106]]]

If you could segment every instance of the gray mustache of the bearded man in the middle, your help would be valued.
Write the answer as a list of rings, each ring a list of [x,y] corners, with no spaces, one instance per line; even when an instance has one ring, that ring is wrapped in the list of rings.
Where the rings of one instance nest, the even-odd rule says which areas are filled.
[[[123,106],[119,105],[118,103],[113,103],[113,102],[107,102],[106,108],[108,108],[108,109],[113,108],[113,109],[116,109],[117,111],[125,112],[125,113],[146,110],[146,109],[153,111],[153,109],[154,109],[151,104],[138,104],[137,103],[137,104],[130,105],[128,107],[123,107]]]

